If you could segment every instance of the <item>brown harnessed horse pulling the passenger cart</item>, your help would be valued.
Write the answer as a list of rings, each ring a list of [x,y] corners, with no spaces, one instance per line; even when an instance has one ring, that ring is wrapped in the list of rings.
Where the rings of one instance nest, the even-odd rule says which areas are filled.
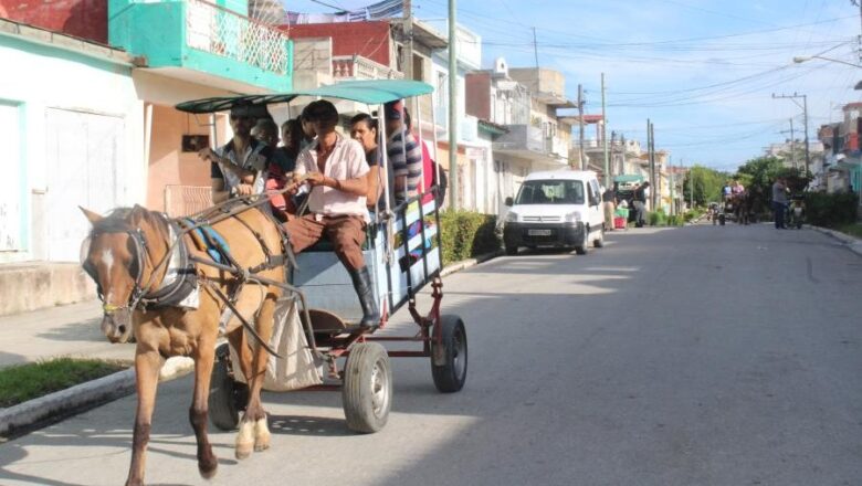
[[[193,308],[195,305],[160,306],[158,297],[165,296],[164,284],[169,276],[169,265],[164,262],[172,260],[169,252],[174,255],[175,234],[182,234],[178,226],[160,213],[138,205],[115,210],[105,218],[83,208],[82,211],[93,224],[90,244],[82,251],[82,262],[96,282],[104,304],[102,330],[113,342],[127,339],[129,332],[134,332],[137,340],[135,372],[138,403],[126,484],[144,484],[145,455],[159,369],[162,360],[171,356],[188,356],[195,360],[195,393],[189,419],[198,442],[198,468],[204,478],[212,477],[218,459],[207,437],[207,399],[220,316],[227,305],[219,295],[234,298],[234,307],[253,323],[260,340],[267,342],[272,336],[275,300],[282,290],[275,285],[254,283],[253,278],[241,285],[242,276],[223,267],[195,263],[195,258],[212,258],[206,250],[196,246],[189,233],[185,233],[174,247],[179,251],[177,245],[182,244],[187,251],[186,277],[197,282],[197,308]],[[231,263],[243,270],[261,266],[270,255],[283,253],[283,240],[275,222],[256,208],[213,223],[212,229],[228,243],[230,255],[225,257],[232,258]],[[282,265],[263,266],[265,270],[255,275],[284,282],[285,268]],[[172,282],[176,283],[176,278]],[[238,290],[241,290],[239,295]],[[235,444],[236,458],[244,458],[252,450],[263,451],[270,446],[266,414],[261,404],[266,350],[260,341],[246,337],[236,318],[228,323],[224,332],[238,351],[250,389]]]

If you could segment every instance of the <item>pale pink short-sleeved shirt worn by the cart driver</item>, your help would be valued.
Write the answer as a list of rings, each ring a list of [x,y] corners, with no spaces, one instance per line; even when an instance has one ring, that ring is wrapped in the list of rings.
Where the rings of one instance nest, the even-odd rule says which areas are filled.
[[[365,150],[361,144],[354,139],[344,138],[336,134],[335,147],[329,158],[326,159],[324,176],[333,179],[356,179],[368,173],[368,162],[365,160]],[[317,169],[319,140],[315,140],[305,150],[299,152],[296,159],[296,175],[319,172]],[[361,216],[366,222],[368,209],[365,196],[354,196],[335,188],[317,186],[308,196],[308,209],[316,214]]]

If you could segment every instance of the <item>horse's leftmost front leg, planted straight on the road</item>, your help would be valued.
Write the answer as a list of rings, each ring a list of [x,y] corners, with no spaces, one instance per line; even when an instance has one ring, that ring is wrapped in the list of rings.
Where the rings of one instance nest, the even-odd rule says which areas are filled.
[[[138,342],[135,351],[135,387],[138,392],[138,408],[135,414],[135,432],[132,435],[132,465],[126,486],[144,484],[147,443],[156,405],[156,387],[159,383],[161,357],[156,349],[141,349]]]

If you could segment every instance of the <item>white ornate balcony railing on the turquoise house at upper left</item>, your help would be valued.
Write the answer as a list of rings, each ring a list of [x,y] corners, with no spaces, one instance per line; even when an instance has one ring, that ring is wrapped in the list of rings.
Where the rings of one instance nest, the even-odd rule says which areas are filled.
[[[285,32],[202,0],[188,1],[186,43],[275,74],[290,66]]]

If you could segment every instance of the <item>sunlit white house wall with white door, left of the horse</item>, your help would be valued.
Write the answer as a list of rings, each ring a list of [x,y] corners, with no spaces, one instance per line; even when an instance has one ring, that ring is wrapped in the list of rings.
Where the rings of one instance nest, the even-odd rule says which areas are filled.
[[[20,243],[0,251],[0,263],[77,261],[90,228],[77,205],[104,212],[145,199],[144,109],[130,66],[18,35],[0,36],[0,65],[13,66],[0,76],[0,104],[17,110],[21,142],[12,161],[20,204],[9,220],[19,221]]]

